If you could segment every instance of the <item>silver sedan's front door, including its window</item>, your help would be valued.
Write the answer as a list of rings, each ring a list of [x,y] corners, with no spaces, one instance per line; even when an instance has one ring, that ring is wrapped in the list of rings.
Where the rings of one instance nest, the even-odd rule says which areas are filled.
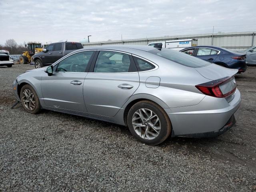
[[[72,54],[54,66],[52,76],[42,77],[42,94],[46,106],[87,112],[83,86],[94,51]]]

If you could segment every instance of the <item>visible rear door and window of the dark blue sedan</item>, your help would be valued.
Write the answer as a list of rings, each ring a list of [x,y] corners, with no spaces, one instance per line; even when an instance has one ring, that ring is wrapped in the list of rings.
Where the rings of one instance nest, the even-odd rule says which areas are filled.
[[[197,52],[194,56],[213,63],[217,58],[219,52],[220,51],[215,49],[199,47],[197,48]]]

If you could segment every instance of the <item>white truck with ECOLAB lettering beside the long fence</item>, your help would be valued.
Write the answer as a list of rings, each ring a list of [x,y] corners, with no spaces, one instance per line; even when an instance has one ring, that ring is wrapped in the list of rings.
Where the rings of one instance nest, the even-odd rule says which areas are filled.
[[[197,39],[179,39],[179,40],[167,40],[158,41],[148,44],[149,46],[154,46],[157,48],[169,48],[174,50],[182,50],[187,47],[197,46]]]

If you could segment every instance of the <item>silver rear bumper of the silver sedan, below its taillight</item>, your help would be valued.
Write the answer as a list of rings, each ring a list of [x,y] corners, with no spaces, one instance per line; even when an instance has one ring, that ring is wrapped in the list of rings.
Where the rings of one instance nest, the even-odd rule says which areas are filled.
[[[172,137],[218,136],[234,126],[236,119],[232,116],[237,112],[240,103],[240,92],[236,90],[229,103],[225,98],[206,96],[195,106],[165,109],[172,123]],[[212,110],[208,110],[209,108]]]

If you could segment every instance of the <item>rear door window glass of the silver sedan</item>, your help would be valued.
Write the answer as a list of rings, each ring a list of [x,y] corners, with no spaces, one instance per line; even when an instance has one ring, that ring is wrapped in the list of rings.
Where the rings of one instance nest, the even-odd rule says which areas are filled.
[[[129,72],[130,57],[128,54],[112,51],[100,51],[95,63],[96,73],[124,73]]]

